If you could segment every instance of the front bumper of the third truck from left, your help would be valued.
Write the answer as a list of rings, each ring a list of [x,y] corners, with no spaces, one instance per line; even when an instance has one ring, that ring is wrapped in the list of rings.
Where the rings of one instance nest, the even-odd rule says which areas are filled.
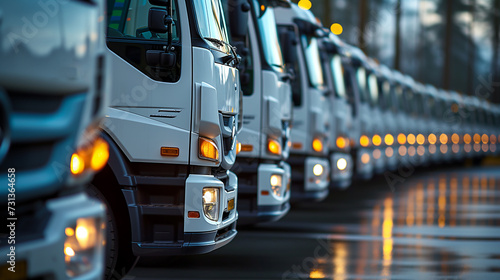
[[[246,164],[238,162],[238,224],[250,225],[281,219],[290,210],[290,166],[279,164]],[[275,193],[271,176],[281,176],[281,189]]]

